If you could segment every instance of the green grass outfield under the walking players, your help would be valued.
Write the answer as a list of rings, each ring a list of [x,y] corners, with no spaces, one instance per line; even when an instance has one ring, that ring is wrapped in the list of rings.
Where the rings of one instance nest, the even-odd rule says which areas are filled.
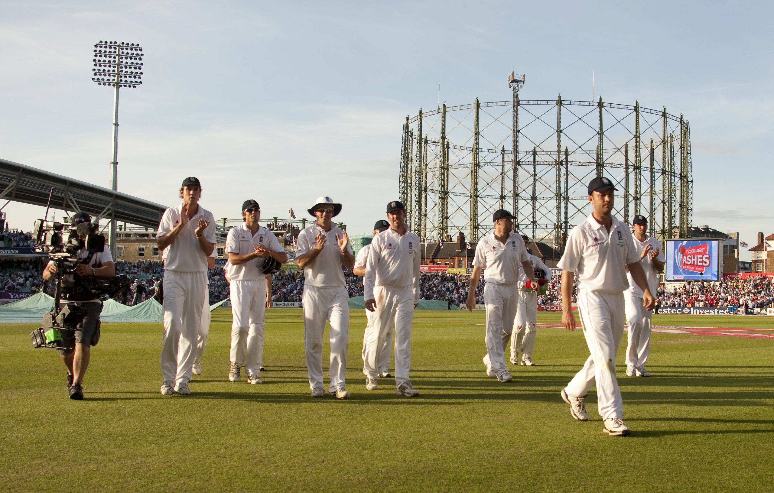
[[[772,491],[772,339],[653,334],[652,378],[624,375],[624,341],[633,431],[608,437],[594,391],[587,423],[559,395],[587,358],[581,330],[540,328],[539,366],[509,364],[501,384],[481,363],[484,312],[417,311],[411,399],[392,379],[365,390],[365,314],[351,317],[348,401],[310,398],[298,309],[267,313],[263,385],[227,381],[231,313],[216,310],[189,396],[159,395],[160,324],[103,324],[81,402],[57,353],[30,344],[36,326],[0,325],[0,491]]]

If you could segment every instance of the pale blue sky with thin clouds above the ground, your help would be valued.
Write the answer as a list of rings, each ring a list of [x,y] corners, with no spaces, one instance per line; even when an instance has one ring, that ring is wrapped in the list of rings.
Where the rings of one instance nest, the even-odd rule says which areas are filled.
[[[398,193],[401,125],[440,98],[591,98],[683,113],[694,224],[774,233],[771,2],[0,1],[0,157],[108,186],[112,92],[91,82],[99,39],[141,43],[122,91],[118,190],[238,217],[300,215],[319,195],[368,233]],[[11,203],[13,228],[39,209]],[[749,254],[742,254],[748,259]]]

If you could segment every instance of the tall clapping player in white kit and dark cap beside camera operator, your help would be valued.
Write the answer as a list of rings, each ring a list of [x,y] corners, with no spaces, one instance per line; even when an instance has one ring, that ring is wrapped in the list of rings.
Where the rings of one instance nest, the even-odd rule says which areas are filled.
[[[194,176],[180,187],[183,204],[164,211],[156,235],[169,248],[164,263],[164,339],[161,349],[162,395],[190,394],[202,300],[207,289],[207,257],[215,248],[215,222],[199,205],[201,184]]]

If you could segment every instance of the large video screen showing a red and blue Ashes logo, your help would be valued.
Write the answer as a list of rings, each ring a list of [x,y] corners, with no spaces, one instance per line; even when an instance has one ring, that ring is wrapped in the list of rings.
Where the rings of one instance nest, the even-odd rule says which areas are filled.
[[[667,281],[717,281],[720,240],[666,240]]]

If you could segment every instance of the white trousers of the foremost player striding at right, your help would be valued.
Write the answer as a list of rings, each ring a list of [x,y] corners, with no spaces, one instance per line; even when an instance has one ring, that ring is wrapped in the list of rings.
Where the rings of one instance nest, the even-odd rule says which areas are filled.
[[[624,294],[578,289],[577,302],[591,356],[567,384],[565,392],[573,397],[584,397],[596,383],[600,416],[603,419],[623,418],[621,390],[615,379],[615,353],[624,334]]]

